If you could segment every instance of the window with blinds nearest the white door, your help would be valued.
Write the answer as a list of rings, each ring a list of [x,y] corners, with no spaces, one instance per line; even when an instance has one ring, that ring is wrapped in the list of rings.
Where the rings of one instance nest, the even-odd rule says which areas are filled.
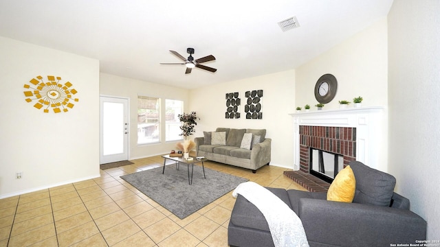
[[[137,144],[157,143],[160,138],[160,99],[137,96]]]

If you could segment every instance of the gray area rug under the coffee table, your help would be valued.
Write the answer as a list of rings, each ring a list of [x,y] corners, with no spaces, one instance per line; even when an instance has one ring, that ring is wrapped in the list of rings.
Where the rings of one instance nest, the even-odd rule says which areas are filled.
[[[174,164],[166,165],[164,174],[162,174],[162,169],[163,167],[157,167],[120,177],[180,219],[184,219],[232,191],[237,185],[248,181],[246,178],[217,172],[206,167],[205,179],[201,166],[195,165],[192,185],[188,185],[187,165],[180,164],[179,170]]]

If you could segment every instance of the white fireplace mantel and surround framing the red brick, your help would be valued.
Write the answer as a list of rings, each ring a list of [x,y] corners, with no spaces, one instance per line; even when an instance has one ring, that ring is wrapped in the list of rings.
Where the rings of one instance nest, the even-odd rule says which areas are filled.
[[[328,126],[356,128],[356,161],[386,171],[384,111],[382,106],[367,106],[289,114],[294,117],[294,169],[298,170],[300,167],[300,126]]]

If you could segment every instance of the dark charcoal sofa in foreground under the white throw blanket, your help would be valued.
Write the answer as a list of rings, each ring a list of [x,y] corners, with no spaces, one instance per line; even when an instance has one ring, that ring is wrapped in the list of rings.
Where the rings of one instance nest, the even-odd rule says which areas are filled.
[[[267,188],[303,222],[311,247],[409,246],[426,239],[427,223],[410,211],[410,201],[394,193],[395,178],[358,161],[352,203],[327,199],[327,192]],[[228,226],[230,246],[274,246],[265,217],[239,194]],[[415,245],[416,246],[416,245]]]

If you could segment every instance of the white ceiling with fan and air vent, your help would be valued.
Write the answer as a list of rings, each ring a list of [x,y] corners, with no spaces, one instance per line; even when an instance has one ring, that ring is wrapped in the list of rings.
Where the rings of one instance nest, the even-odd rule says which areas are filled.
[[[384,18],[393,0],[0,0],[0,36],[100,60],[100,71],[194,89],[295,69]],[[300,27],[281,31],[296,16]],[[184,65],[193,47],[211,73]],[[362,59],[362,58],[360,58]]]

